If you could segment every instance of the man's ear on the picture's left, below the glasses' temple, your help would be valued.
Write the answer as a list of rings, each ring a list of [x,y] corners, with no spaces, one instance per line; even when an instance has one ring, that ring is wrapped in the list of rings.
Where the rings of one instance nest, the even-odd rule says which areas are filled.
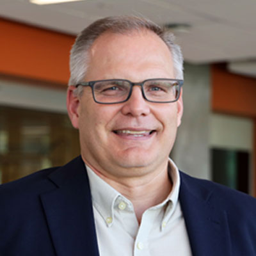
[[[74,126],[74,128],[78,129],[80,99],[74,94],[75,89],[75,86],[68,86],[67,111],[72,125]]]

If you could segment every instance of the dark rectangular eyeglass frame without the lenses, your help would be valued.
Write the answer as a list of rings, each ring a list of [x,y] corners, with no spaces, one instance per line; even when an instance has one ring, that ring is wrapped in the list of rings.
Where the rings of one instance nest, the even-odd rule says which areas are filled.
[[[98,83],[98,82],[108,82],[108,81],[126,81],[128,82],[131,87],[130,87],[130,91],[129,94],[127,95],[127,98],[125,100],[122,101],[118,101],[118,102],[100,102],[98,100],[95,99],[95,95],[94,95],[94,84]],[[148,100],[145,92],[144,92],[144,87],[143,84],[146,83],[147,81],[154,81],[154,80],[161,80],[161,81],[173,81],[173,82],[177,82],[179,85],[179,90],[178,90],[178,95],[177,98],[175,100],[168,100],[168,101],[155,101],[155,100]],[[76,88],[78,86],[90,86],[90,88],[92,88],[92,95],[93,95],[93,100],[99,104],[118,104],[118,103],[123,103],[126,102],[127,100],[130,99],[131,95],[132,95],[132,88],[133,86],[141,86],[141,92],[142,92],[142,96],[145,100],[147,100],[148,102],[153,102],[153,103],[172,103],[172,102],[176,102],[177,100],[179,100],[180,97],[180,88],[182,86],[182,84],[184,83],[183,80],[181,79],[169,79],[169,78],[153,78],[153,79],[146,79],[144,81],[142,81],[141,83],[132,83],[131,81],[127,80],[127,79],[105,79],[105,80],[95,80],[95,81],[89,81],[89,82],[82,82],[79,84],[76,84]]]

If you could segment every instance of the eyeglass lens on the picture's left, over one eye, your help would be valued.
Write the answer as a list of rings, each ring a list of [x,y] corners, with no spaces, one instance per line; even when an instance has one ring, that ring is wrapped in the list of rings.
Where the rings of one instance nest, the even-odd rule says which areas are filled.
[[[111,103],[125,100],[131,84],[123,80],[106,80],[94,84],[94,97],[98,102]]]

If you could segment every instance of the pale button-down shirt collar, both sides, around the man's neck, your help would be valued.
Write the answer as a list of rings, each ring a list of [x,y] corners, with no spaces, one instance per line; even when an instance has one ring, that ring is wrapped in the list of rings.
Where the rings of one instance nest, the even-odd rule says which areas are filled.
[[[94,207],[99,212],[100,216],[106,221],[106,225],[111,227],[114,221],[114,209],[120,205],[120,202],[125,202],[126,210],[133,211],[132,203],[130,200],[121,195],[116,189],[111,187],[107,182],[102,180],[93,170],[87,166],[86,170],[88,173],[88,178],[90,182],[90,189],[92,194],[92,202]],[[169,159],[169,177],[172,180],[172,191],[167,196],[167,198],[151,209],[159,209],[165,207],[163,221],[161,227],[163,228],[166,223],[170,220],[175,207],[178,203],[179,189],[180,189],[180,175],[179,170],[172,159]]]

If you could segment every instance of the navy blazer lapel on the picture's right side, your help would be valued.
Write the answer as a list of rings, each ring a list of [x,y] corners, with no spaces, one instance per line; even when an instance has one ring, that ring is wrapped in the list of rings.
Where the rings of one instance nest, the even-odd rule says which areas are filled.
[[[227,214],[212,203],[212,191],[180,173],[180,205],[193,255],[231,256]]]

